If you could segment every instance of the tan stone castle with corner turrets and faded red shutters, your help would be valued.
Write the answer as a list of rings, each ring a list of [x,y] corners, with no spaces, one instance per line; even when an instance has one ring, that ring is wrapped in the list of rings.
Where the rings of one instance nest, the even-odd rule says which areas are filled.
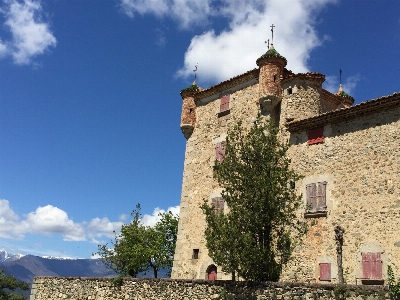
[[[388,265],[400,275],[400,93],[353,105],[341,86],[336,94],[322,88],[323,74],[287,70],[273,46],[256,63],[210,88],[181,91],[187,143],[172,277],[231,279],[207,255],[200,205],[227,209],[212,167],[228,130],[238,120],[250,127],[261,112],[291,142],[292,167],[304,176],[295,189],[309,232],[281,280],[337,283],[340,225],[345,281],[387,284]]]

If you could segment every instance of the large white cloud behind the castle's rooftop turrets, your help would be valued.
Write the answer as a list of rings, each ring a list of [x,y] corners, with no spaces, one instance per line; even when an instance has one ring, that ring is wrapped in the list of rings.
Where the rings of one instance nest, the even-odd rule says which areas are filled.
[[[319,46],[314,24],[318,12],[336,0],[120,0],[126,14],[154,14],[176,19],[184,28],[215,18],[227,20],[221,32],[208,30],[192,38],[178,77],[193,76],[199,64],[199,82],[216,83],[256,67],[267,51],[265,40],[275,24],[274,45],[288,59],[287,68],[307,72],[311,50]],[[157,7],[153,6],[153,3]]]

